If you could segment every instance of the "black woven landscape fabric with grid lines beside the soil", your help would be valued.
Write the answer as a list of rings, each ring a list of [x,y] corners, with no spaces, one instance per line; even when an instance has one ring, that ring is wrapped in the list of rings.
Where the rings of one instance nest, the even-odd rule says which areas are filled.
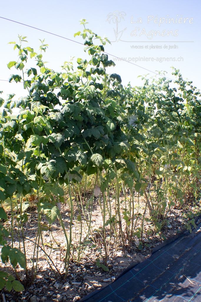
[[[200,251],[201,223],[81,301],[201,302]]]

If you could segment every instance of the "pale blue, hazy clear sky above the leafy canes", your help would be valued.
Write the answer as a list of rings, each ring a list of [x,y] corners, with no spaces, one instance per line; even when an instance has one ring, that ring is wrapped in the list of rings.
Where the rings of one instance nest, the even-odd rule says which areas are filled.
[[[82,26],[79,24],[81,18],[85,18],[89,22],[88,27],[96,34],[102,37],[106,36],[111,41],[115,41],[115,31],[118,25],[117,38],[119,39],[121,36],[120,40],[112,42],[111,45],[108,44],[105,47],[105,51],[111,54],[109,59],[113,59],[113,56],[118,56],[151,71],[165,70],[168,72],[167,76],[169,78],[173,78],[171,76],[171,66],[174,66],[180,69],[184,79],[193,80],[193,84],[200,88],[200,8],[200,2],[195,0],[191,2],[186,0],[170,0],[168,2],[158,0],[132,2],[128,0],[124,2],[108,2],[105,0],[101,2],[35,0],[34,2],[17,2],[10,0],[9,2],[1,3],[0,16],[81,43],[83,42],[81,37],[74,38],[75,32],[82,31]],[[121,13],[121,17],[124,19],[120,18],[118,12]],[[108,14],[110,23],[106,21]],[[119,16],[118,24],[117,22],[113,23],[115,14]],[[148,18],[150,20],[149,23]],[[160,18],[161,21],[165,21],[159,26]],[[171,21],[169,24],[169,19],[167,19],[166,23],[166,18],[173,18],[175,23]],[[180,22],[178,22],[179,18]],[[185,24],[184,18],[186,18]],[[191,24],[189,23],[190,19]],[[138,21],[139,23],[131,23],[131,21]],[[136,27],[135,36],[134,30]],[[123,31],[122,35],[121,31]],[[158,33],[154,37],[155,31]],[[167,35],[168,31],[170,32],[169,35]],[[44,58],[49,62],[48,66],[55,71],[60,71],[60,66],[64,61],[68,61],[70,57],[75,56],[74,61],[76,62],[77,57],[83,58],[86,56],[82,45],[1,18],[0,33],[1,80],[8,80],[9,75],[16,72],[14,68],[11,70],[7,68],[9,61],[17,59],[17,51],[14,51],[13,45],[8,44],[8,42],[17,41],[18,34],[27,36],[29,42],[27,46],[33,47],[35,51],[39,49],[40,43],[38,39],[45,38],[49,48]],[[140,35],[140,33],[142,34]],[[153,37],[151,36],[152,33]],[[167,48],[164,47],[165,45]],[[144,61],[142,59],[139,61],[139,57],[144,58]],[[168,59],[167,61],[163,59],[160,62],[160,58]],[[169,58],[175,58],[175,61],[172,62]],[[178,58],[182,59],[178,61]],[[153,75],[151,72],[124,61],[115,61],[115,63],[116,66],[108,70],[108,72],[120,74],[124,85],[127,85],[129,81],[133,86],[141,85],[140,78],[137,78],[137,76],[147,73],[151,76]],[[30,64],[34,67],[33,59],[30,59]],[[0,90],[3,90],[4,98],[6,98],[8,93],[15,93],[16,98],[26,95],[26,91],[21,86],[20,84],[0,81]]]

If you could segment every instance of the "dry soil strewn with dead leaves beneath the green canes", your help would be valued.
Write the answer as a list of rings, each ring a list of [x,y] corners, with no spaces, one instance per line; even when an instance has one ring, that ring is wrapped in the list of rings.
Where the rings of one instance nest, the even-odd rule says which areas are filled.
[[[113,210],[115,212],[115,202],[111,202],[111,206],[113,207]],[[123,203],[121,204],[121,207],[123,209]],[[141,213],[144,212],[144,208],[145,200],[141,198]],[[121,212],[123,211],[122,209]],[[188,210],[186,210],[186,212],[193,212],[193,210],[193,205],[188,205]],[[28,222],[24,224],[24,236],[26,237],[25,245],[27,251],[28,269],[31,270],[35,242],[34,240],[36,238],[37,232],[37,211],[36,207],[32,207],[32,209],[28,209],[27,211],[30,213],[30,215]],[[42,251],[42,249],[39,249],[38,271],[33,284],[25,288],[25,290],[20,293],[14,291],[8,292],[7,290],[3,290],[2,294],[0,294],[0,301],[78,301],[80,298],[86,296],[91,291],[100,289],[110,284],[132,262],[142,262],[144,259],[149,257],[151,255],[153,247],[162,242],[163,239],[169,238],[177,232],[183,230],[185,228],[185,223],[187,222],[187,218],[185,218],[183,215],[184,212],[184,209],[172,208],[169,211],[167,217],[168,225],[166,224],[164,226],[160,234],[152,233],[152,235],[147,236],[147,231],[151,230],[153,226],[150,221],[145,221],[143,246],[141,250],[138,249],[138,241],[136,237],[132,239],[130,247],[126,247],[126,250],[124,252],[121,245],[119,245],[118,248],[116,248],[115,246],[114,248],[112,248],[111,241],[111,249],[109,250],[107,261],[107,267],[109,268],[109,272],[104,271],[102,268],[98,268],[96,266],[97,258],[99,258],[100,262],[103,263],[102,256],[104,256],[104,252],[102,252],[103,245],[101,243],[101,236],[99,236],[99,233],[96,232],[95,238],[100,246],[99,249],[86,248],[84,250],[83,257],[80,263],[76,262],[75,252],[75,257],[72,256],[71,259],[68,277],[65,280],[64,255],[66,245],[64,233],[58,220],[56,220],[55,223],[52,224],[50,232],[48,222],[44,215],[42,217],[41,225],[43,229],[42,236],[45,251],[52,259],[52,262],[56,266],[59,273],[55,270],[55,267],[52,262],[50,263],[54,271],[51,270],[49,264],[46,261],[44,252]],[[10,213],[8,212],[8,215],[9,214]],[[69,232],[70,209],[68,203],[61,204],[61,216],[66,230]],[[149,217],[149,215],[147,217]],[[92,226],[94,229],[96,228],[96,230],[100,230],[102,226],[102,213],[99,207],[98,198],[96,198],[93,202]],[[16,223],[14,228],[14,246],[19,247],[19,239],[17,232],[18,228]],[[77,240],[79,239],[76,220],[73,221],[72,234],[72,243],[76,246]],[[10,239],[8,239],[8,241],[9,240]],[[13,268],[9,263],[3,264],[1,262],[0,265],[1,270],[11,272],[12,274],[14,273]],[[22,269],[20,270],[20,267],[17,267],[17,270],[19,272],[20,278],[23,280],[25,278],[25,276],[23,275],[24,271]]]

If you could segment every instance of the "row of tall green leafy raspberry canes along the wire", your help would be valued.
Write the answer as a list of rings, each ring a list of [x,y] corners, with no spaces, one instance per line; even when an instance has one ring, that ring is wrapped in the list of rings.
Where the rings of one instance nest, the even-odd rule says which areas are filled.
[[[182,206],[188,194],[195,204],[200,203],[199,90],[176,69],[174,85],[161,73],[161,77],[142,77],[142,87],[133,88],[130,83],[124,87],[119,75],[106,72],[115,66],[104,53],[108,39],[87,29],[85,20],[81,24],[84,30],[75,36],[84,39],[89,59],[78,58],[76,71],[73,61],[64,62],[61,72],[49,68],[43,61],[48,47],[44,41],[39,53],[25,46],[26,37],[11,42],[18,59],[8,63],[9,69],[17,69],[9,81],[22,82],[27,97],[16,100],[12,94],[6,101],[0,98],[4,106],[0,116],[1,259],[10,261],[15,271],[15,277],[0,272],[0,289],[23,289],[17,264],[24,269],[25,286],[36,277],[40,246],[45,252],[44,215],[49,228],[58,219],[63,229],[67,278],[72,254],[79,262],[87,247],[102,247],[105,264],[99,259],[96,264],[108,270],[111,238],[113,247],[125,250],[137,236],[140,249],[147,213],[152,223],[149,232],[160,233],[171,207]],[[36,66],[26,69],[29,56]],[[17,119],[12,118],[13,108],[20,108]],[[145,204],[140,213],[142,196]],[[91,224],[96,197],[103,217],[99,242]],[[30,219],[31,199],[37,207],[37,232],[33,265],[28,270],[24,224]],[[65,202],[70,209],[68,230],[61,217],[61,203]],[[11,208],[10,228],[5,227],[5,205]],[[76,246],[72,244],[74,221],[79,230]],[[18,246],[14,244],[16,223]],[[58,271],[45,255],[50,267]]]

